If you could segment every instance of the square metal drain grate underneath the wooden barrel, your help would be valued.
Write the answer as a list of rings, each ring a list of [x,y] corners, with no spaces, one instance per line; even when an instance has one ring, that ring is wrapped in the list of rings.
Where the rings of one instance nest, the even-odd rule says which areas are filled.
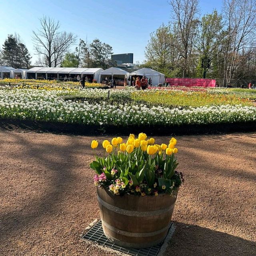
[[[169,230],[171,226],[172,226],[172,223],[170,224]],[[108,238],[106,238],[103,232],[101,220],[97,222],[84,236],[82,236],[82,239],[96,242],[97,244],[107,246],[109,248],[118,250],[119,252],[124,252],[127,255],[132,255],[132,256],[157,256],[163,244],[162,242],[156,246],[152,246],[144,249],[131,249],[131,248],[120,247],[114,244],[113,242],[111,242],[110,240],[108,240]]]

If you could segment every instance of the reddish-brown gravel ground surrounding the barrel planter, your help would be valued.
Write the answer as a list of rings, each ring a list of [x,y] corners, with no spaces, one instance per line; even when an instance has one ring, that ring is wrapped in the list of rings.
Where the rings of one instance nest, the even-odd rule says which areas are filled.
[[[165,255],[256,255],[256,133],[177,139],[185,184]],[[91,140],[0,130],[1,256],[116,255],[80,239],[100,216]]]

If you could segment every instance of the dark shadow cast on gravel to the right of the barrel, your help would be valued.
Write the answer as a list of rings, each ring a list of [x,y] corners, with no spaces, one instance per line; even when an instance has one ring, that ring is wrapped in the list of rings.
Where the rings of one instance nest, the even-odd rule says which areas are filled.
[[[224,232],[174,222],[176,230],[164,256],[254,256],[256,243]]]

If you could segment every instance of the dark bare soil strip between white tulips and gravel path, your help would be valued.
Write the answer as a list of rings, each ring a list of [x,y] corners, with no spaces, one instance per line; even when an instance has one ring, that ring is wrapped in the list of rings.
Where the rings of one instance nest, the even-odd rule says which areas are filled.
[[[118,134],[129,135],[142,131],[149,135],[194,135],[194,134],[228,134],[232,132],[256,131],[256,122],[220,123],[220,124],[191,124],[181,126],[114,126],[114,125],[84,125],[66,124],[58,122],[44,122],[31,120],[0,119],[0,128],[5,130],[24,130],[36,132],[52,132],[56,134],[101,135]]]

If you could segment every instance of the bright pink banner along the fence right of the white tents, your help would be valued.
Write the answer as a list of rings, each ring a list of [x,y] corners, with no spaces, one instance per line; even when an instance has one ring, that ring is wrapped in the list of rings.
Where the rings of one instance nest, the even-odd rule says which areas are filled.
[[[166,78],[165,82],[170,83],[170,86],[201,86],[215,87],[216,80],[203,78]]]

